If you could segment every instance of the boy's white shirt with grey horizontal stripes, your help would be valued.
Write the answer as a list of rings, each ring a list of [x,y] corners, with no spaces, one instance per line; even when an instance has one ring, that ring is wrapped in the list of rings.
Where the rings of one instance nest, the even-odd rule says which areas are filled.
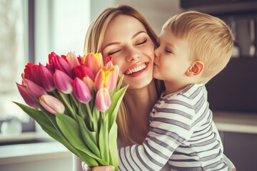
[[[230,170],[203,84],[162,95],[143,145],[119,148],[119,170]]]

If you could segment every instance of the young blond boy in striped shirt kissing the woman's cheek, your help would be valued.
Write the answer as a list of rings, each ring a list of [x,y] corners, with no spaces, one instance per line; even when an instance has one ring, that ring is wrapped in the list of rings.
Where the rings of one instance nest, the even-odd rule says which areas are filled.
[[[233,33],[214,16],[188,11],[163,25],[153,77],[166,91],[151,111],[143,145],[119,149],[119,170],[231,170],[213,124],[205,84],[231,58]],[[218,93],[218,92],[217,92]]]

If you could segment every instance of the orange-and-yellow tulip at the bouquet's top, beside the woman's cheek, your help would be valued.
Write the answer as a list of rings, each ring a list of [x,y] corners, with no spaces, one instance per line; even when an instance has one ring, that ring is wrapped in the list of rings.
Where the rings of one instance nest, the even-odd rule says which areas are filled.
[[[96,76],[99,69],[104,66],[103,56],[101,53],[89,53],[83,57],[83,65],[89,67]]]

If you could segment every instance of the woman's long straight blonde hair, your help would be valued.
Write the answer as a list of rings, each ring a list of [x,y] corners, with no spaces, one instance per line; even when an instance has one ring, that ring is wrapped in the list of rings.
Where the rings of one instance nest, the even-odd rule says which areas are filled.
[[[104,34],[106,32],[106,28],[109,23],[119,15],[132,16],[133,18],[138,19],[138,21],[140,21],[146,28],[148,36],[150,36],[153,43],[156,44],[156,33],[154,33],[143,15],[131,6],[119,5],[116,8],[105,9],[96,19],[94,19],[94,21],[92,21],[86,33],[84,54],[102,52],[104,48]],[[156,88],[157,90],[163,88],[162,83],[156,81]],[[124,100],[119,108],[116,121],[118,124],[119,137],[125,145],[131,144],[131,139],[129,138],[129,113]]]

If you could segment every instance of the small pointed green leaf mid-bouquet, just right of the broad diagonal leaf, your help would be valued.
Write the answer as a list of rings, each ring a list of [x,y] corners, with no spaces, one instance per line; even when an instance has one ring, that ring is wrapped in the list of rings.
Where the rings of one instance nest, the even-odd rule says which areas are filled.
[[[101,157],[101,153],[98,147],[98,142],[96,141],[96,133],[90,131],[86,127],[84,120],[80,116],[78,116],[78,122],[79,122],[79,128],[81,130],[81,135],[84,142],[89,147],[89,149],[92,152],[94,152],[96,156]]]

